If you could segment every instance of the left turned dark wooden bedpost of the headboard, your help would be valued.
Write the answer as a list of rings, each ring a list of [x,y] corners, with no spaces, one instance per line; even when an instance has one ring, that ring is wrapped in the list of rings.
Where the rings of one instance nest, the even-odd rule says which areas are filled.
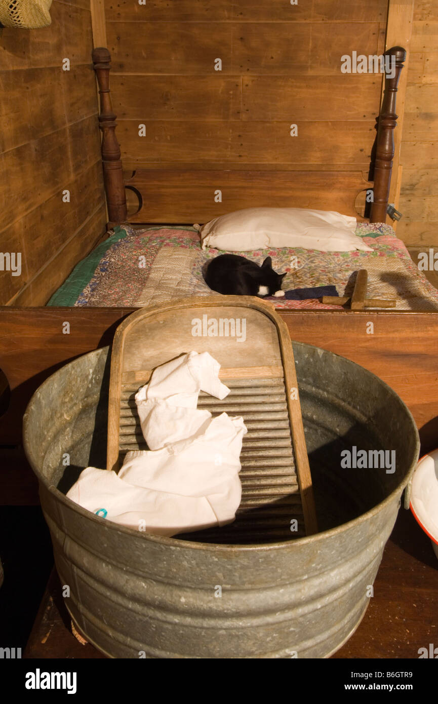
[[[108,205],[108,228],[127,222],[125,184],[123,166],[120,160],[120,146],[115,137],[115,114],[111,106],[109,90],[109,72],[111,56],[104,46],[94,49],[93,65],[99,84],[101,98],[99,127],[102,131],[102,165],[104,168],[104,186]]]

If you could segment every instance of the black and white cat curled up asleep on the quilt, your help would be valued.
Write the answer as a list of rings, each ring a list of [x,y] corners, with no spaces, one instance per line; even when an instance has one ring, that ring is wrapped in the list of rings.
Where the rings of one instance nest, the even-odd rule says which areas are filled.
[[[282,280],[285,276],[286,272],[277,274],[273,270],[270,257],[259,266],[237,254],[220,254],[204,270],[206,284],[227,296],[284,296]]]

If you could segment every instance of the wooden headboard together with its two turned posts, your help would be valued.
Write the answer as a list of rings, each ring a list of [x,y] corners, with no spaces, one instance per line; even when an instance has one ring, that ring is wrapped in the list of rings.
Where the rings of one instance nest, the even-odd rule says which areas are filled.
[[[395,59],[395,75],[384,73],[384,97],[380,109],[380,115],[376,118],[376,134],[373,144],[373,133],[368,128],[368,133],[355,132],[351,127],[352,134],[346,135],[345,139],[363,139],[357,145],[357,149],[365,154],[370,154],[368,171],[362,168],[355,168],[350,165],[345,168],[344,164],[339,165],[342,158],[334,158],[333,163],[326,165],[306,164],[303,168],[286,168],[280,163],[254,163],[254,168],[249,168],[246,160],[240,165],[237,160],[239,154],[234,154],[234,161],[228,164],[218,163],[210,157],[208,163],[204,163],[202,158],[198,163],[185,165],[181,161],[175,163],[165,162],[148,163],[145,162],[144,151],[142,158],[132,156],[135,146],[130,147],[131,156],[124,156],[122,163],[120,158],[120,146],[115,135],[116,115],[113,113],[111,96],[109,89],[109,70],[111,68],[111,56],[108,49],[104,47],[96,48],[93,51],[94,70],[96,71],[99,83],[99,94],[101,96],[101,109],[99,115],[99,126],[103,133],[102,137],[102,162],[104,168],[104,182],[106,187],[106,198],[108,203],[109,225],[119,225],[124,222],[132,223],[154,223],[162,224],[179,223],[192,225],[194,222],[207,222],[217,215],[229,213],[240,208],[250,208],[255,206],[272,207],[300,207],[317,208],[320,210],[337,210],[345,215],[354,215],[361,221],[364,215],[369,215],[370,222],[385,222],[387,205],[389,199],[389,186],[392,173],[392,159],[394,157],[394,127],[396,127],[395,113],[396,92],[399,83],[403,61],[406,59],[406,51],[400,46],[394,46],[385,52],[384,56]],[[367,76],[367,79],[370,77]],[[307,81],[315,79],[315,76],[308,77]],[[354,80],[351,80],[354,79]],[[354,86],[360,76],[340,75],[339,86],[344,88],[346,84],[351,84],[349,90],[349,103],[343,107],[342,98],[337,101],[339,110],[349,113],[349,108],[354,105]],[[249,79],[248,79],[249,80]],[[375,80],[375,77],[374,77]],[[301,85],[301,77],[296,78],[297,91]],[[327,99],[327,87],[324,80],[311,81],[313,83],[312,100],[309,102],[308,92],[300,101],[296,101],[294,107],[296,112],[303,117],[311,114],[318,114],[317,107]],[[333,87],[333,79],[329,84],[329,90]],[[138,89],[140,90],[139,83]],[[266,101],[270,99],[269,81],[265,83]],[[123,88],[119,84],[119,104],[123,103]],[[208,96],[207,96],[208,97]],[[137,102],[139,106],[147,103],[147,96],[139,95]],[[246,108],[249,109],[249,108]],[[291,108],[292,109],[292,108]],[[361,106],[361,111],[371,112],[368,106]],[[146,129],[146,124],[140,117],[141,110],[134,111],[135,130]],[[351,114],[351,111],[350,111]],[[363,115],[366,117],[367,115]],[[369,115],[368,115],[369,117]],[[147,122],[147,120],[146,120]],[[178,120],[171,129],[178,129]],[[292,121],[291,121],[292,122]],[[298,125],[300,121],[296,119]],[[170,124],[170,123],[169,123]],[[238,124],[244,125],[244,129],[254,129],[249,121],[242,120]],[[327,129],[330,122],[324,122],[323,127]],[[351,123],[353,124],[353,123]],[[291,125],[292,127],[292,125]],[[130,129],[132,132],[132,124]],[[205,130],[205,125],[204,128]],[[208,149],[214,151],[215,144],[220,142],[220,134],[215,134],[218,130],[218,122],[211,122],[210,133],[201,134],[202,139],[209,139]],[[259,129],[259,127],[257,127]],[[301,129],[301,127],[298,127]],[[335,128],[332,125],[333,134],[336,139],[341,139],[339,125]],[[346,128],[347,129],[347,128]],[[270,149],[270,144],[275,142],[276,136],[270,137],[270,123],[266,122],[265,130],[268,134],[261,135],[261,149]],[[305,130],[305,127],[304,127]],[[292,132],[292,130],[291,130]],[[137,132],[139,140],[142,139]],[[147,135],[146,135],[147,136]],[[123,135],[124,139],[126,134]],[[175,135],[174,135],[175,137]],[[239,137],[242,135],[239,134]],[[312,147],[314,150],[324,150],[326,139],[320,137],[320,143],[312,137]],[[326,137],[326,136],[325,136]],[[132,142],[132,134],[129,137]],[[129,142],[129,139],[127,140]],[[182,136],[183,139],[183,136]],[[294,139],[294,137],[290,137]],[[302,135],[303,141],[291,142],[291,144],[306,145],[309,147],[309,137]],[[307,142],[306,142],[307,139]],[[244,140],[244,137],[242,137]],[[330,141],[330,140],[329,140]],[[125,140],[126,142],[126,140]],[[242,142],[243,144],[244,142]],[[137,142],[137,144],[142,144]],[[342,145],[339,144],[339,152]],[[238,150],[238,146],[237,146]],[[220,151],[218,146],[218,151]],[[326,150],[327,151],[327,150]],[[333,150],[331,150],[333,152]],[[201,153],[200,153],[200,156]],[[328,156],[328,155],[327,155]],[[256,156],[254,157],[256,159]],[[256,159],[257,161],[257,159]],[[261,158],[259,158],[261,161]],[[360,204],[365,203],[365,194],[373,189],[373,202],[368,210],[360,210]],[[126,197],[128,194],[128,199]],[[127,200],[130,205],[128,213]]]

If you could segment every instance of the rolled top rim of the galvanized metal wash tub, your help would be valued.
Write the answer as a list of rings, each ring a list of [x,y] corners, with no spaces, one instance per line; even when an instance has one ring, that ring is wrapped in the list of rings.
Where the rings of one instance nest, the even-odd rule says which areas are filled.
[[[123,534],[127,535],[133,535],[140,537],[140,539],[143,539],[145,541],[150,541],[154,543],[159,543],[161,545],[167,545],[173,548],[187,548],[187,549],[199,549],[203,551],[212,551],[212,552],[224,552],[224,553],[235,553],[237,551],[242,551],[244,553],[248,552],[258,552],[258,551],[268,551],[268,550],[280,550],[280,549],[293,549],[293,546],[305,546],[307,543],[315,543],[315,541],[322,541],[325,539],[330,539],[337,534],[340,534],[342,532],[348,531],[353,525],[356,527],[362,523],[365,523],[366,521],[370,520],[374,515],[377,515],[380,513],[384,508],[392,503],[396,496],[398,494],[401,494],[403,489],[406,488],[406,486],[409,484],[411,481],[411,478],[413,476],[413,472],[415,471],[415,467],[418,464],[418,458],[420,456],[420,436],[418,434],[418,427],[415,423],[414,417],[411,413],[411,410],[409,410],[408,406],[406,406],[406,403],[403,401],[403,399],[399,396],[399,394],[396,394],[396,391],[389,386],[386,382],[383,381],[383,379],[380,379],[376,374],[373,372],[370,372],[370,370],[366,369],[365,367],[362,367],[360,364],[353,362],[353,360],[350,360],[346,357],[343,357],[342,355],[339,355],[335,352],[332,352],[330,350],[325,350],[323,347],[318,347],[316,345],[311,345],[308,344],[307,342],[301,342],[298,340],[292,340],[292,347],[294,348],[294,345],[303,345],[307,347],[311,347],[315,350],[321,351],[323,353],[329,353],[330,355],[333,355],[335,357],[339,357],[342,360],[346,360],[348,363],[355,365],[356,367],[359,367],[359,369],[363,370],[367,375],[370,375],[371,377],[375,377],[379,380],[380,384],[382,384],[384,387],[386,387],[387,392],[389,392],[390,396],[393,396],[396,398],[396,400],[399,401],[399,403],[404,406],[404,410],[407,412],[408,417],[411,418],[413,429],[415,429],[415,452],[414,452],[414,459],[411,463],[410,469],[406,472],[405,476],[403,477],[403,480],[396,486],[396,488],[389,494],[386,498],[383,499],[383,501],[380,501],[380,503],[377,503],[373,508],[370,508],[368,511],[365,511],[365,513],[361,513],[361,515],[357,516],[356,518],[353,518],[346,523],[342,523],[339,526],[335,526],[334,528],[327,529],[322,532],[314,533],[312,535],[304,536],[302,538],[294,538],[288,541],[277,541],[277,542],[272,542],[272,543],[236,543],[236,544],[230,544],[230,543],[203,543],[201,541],[189,541],[189,540],[184,540],[184,539],[179,539],[179,538],[173,538],[173,537],[168,537],[168,536],[161,536],[161,535],[156,535],[154,533],[147,533],[143,531],[136,530],[134,528],[129,528],[127,526],[124,526],[120,523],[115,523],[111,520],[107,520],[106,518],[103,518],[101,516],[97,516],[92,511],[87,510],[86,508],[82,508],[78,503],[75,501],[72,501],[70,498],[65,496],[65,494],[62,493],[62,491],[59,491],[59,489],[54,485],[49,482],[46,477],[42,474],[42,472],[37,469],[37,463],[34,462],[34,456],[33,456],[33,451],[32,451],[32,446],[31,444],[27,441],[27,425],[29,422],[29,415],[32,413],[32,408],[30,406],[33,405],[34,399],[37,397],[39,394],[40,390],[46,386],[46,384],[49,384],[51,382],[52,377],[56,376],[58,373],[60,373],[63,368],[68,365],[75,363],[77,360],[81,359],[82,357],[86,357],[88,355],[94,355],[96,352],[103,352],[105,350],[108,350],[108,354],[111,354],[111,345],[106,345],[104,347],[99,347],[96,350],[91,350],[89,352],[86,352],[85,354],[82,354],[80,356],[77,356],[75,359],[70,360],[67,362],[65,365],[63,365],[60,369],[56,370],[53,374],[51,374],[47,379],[42,382],[38,386],[37,389],[35,389],[34,393],[32,394],[32,397],[30,398],[29,403],[27,403],[25,413],[23,415],[23,448],[25,451],[25,455],[27,458],[27,461],[30,463],[30,466],[32,467],[33,472],[36,474],[37,479],[39,482],[42,482],[46,489],[51,492],[51,494],[54,494],[58,500],[61,500],[62,503],[66,505],[67,508],[72,508],[75,510],[77,513],[85,517],[87,520],[92,520],[94,522],[97,522],[98,524],[101,525],[106,525],[111,524],[110,528],[115,529],[117,531],[120,531]],[[85,467],[84,467],[85,469]],[[398,510],[397,510],[398,513]]]

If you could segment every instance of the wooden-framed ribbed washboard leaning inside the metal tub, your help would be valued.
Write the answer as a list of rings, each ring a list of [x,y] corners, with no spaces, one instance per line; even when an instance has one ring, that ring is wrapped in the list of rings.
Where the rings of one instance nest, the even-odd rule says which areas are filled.
[[[216,324],[208,323],[213,319]],[[225,322],[230,320],[234,335],[232,323]],[[196,326],[215,332],[214,325],[217,337],[193,334],[199,332]],[[185,298],[137,310],[119,325],[111,356],[108,470],[117,471],[127,451],[147,449],[134,401],[139,387],[155,367],[192,350],[211,353],[230,388],[223,401],[201,392],[198,408],[213,416],[242,415],[248,433],[240,455],[242,502],[235,522],[179,537],[270,543],[317,532],[292,343],[280,316],[259,298]]]

